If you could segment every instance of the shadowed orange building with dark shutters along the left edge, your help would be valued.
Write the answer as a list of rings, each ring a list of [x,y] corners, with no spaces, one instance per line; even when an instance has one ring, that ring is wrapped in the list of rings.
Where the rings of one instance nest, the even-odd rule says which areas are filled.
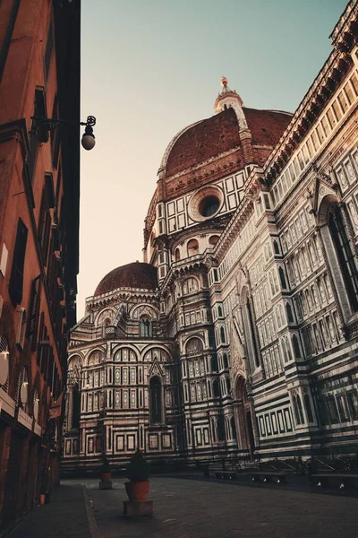
[[[79,79],[68,62],[78,69],[79,39],[80,2],[5,0],[0,5],[3,526],[57,482],[61,427],[58,419],[48,421],[48,409],[64,388],[66,332],[75,317],[78,252],[66,234],[70,227],[78,235],[67,196],[73,194],[69,184],[79,183],[79,140],[77,132],[48,137],[31,117],[64,113],[78,119]],[[60,78],[66,78],[65,92]]]

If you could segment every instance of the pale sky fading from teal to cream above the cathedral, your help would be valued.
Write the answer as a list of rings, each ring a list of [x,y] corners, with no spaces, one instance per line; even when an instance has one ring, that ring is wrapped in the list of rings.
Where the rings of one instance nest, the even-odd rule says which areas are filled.
[[[251,108],[294,112],[331,51],[344,0],[82,0],[77,317],[109,271],[142,261],[167,143],[214,114],[221,76]]]

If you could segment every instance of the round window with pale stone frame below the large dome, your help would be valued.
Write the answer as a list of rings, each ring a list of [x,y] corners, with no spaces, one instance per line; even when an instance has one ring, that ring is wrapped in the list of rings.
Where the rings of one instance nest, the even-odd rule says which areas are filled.
[[[219,187],[210,185],[200,188],[189,202],[189,215],[192,221],[206,221],[214,217],[224,203],[224,195]]]

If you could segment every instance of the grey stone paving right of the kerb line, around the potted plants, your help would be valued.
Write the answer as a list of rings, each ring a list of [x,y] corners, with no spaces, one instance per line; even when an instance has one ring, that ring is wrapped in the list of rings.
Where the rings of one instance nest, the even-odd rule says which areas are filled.
[[[123,516],[124,480],[113,490],[83,481],[104,538],[358,538],[358,499],[169,477],[152,478],[154,516]]]

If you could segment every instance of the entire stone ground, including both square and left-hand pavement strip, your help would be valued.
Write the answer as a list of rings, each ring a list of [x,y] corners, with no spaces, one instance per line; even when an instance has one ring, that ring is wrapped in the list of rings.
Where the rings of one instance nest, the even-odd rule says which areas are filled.
[[[66,480],[9,538],[358,538],[358,499],[285,485],[150,480],[154,515],[123,516],[124,479]]]

